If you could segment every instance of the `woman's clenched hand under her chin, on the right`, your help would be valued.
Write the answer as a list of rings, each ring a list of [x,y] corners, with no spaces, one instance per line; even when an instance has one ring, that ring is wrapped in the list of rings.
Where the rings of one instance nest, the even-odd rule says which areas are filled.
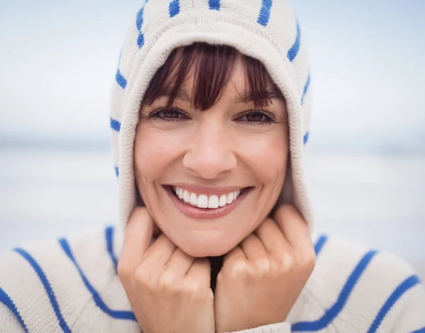
[[[290,205],[278,208],[226,254],[215,289],[217,332],[284,322],[314,269],[305,221]]]

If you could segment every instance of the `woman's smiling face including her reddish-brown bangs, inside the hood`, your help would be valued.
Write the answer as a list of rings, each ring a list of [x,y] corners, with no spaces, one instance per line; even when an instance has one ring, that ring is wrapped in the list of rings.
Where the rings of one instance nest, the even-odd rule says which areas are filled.
[[[159,68],[140,109],[135,177],[184,252],[225,254],[266,218],[285,179],[287,118],[264,65],[233,47],[195,43]]]

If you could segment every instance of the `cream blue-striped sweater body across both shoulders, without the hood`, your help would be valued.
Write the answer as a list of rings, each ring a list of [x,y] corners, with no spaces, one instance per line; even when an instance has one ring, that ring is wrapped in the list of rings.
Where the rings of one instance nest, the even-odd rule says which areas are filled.
[[[0,332],[140,332],[117,275],[120,228],[28,244],[0,259]],[[287,322],[246,332],[425,332],[425,289],[391,254],[321,236]]]

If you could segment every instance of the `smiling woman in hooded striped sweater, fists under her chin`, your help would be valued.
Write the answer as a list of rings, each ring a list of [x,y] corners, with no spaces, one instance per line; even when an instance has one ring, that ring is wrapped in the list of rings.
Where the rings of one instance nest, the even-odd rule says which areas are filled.
[[[150,0],[112,101],[125,235],[6,255],[4,332],[424,331],[402,260],[312,244],[310,71],[284,1]]]

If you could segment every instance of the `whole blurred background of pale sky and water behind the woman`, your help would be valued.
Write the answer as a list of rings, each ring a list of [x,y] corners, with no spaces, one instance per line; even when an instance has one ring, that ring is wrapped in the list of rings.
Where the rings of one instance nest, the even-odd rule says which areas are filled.
[[[425,1],[289,2],[312,64],[315,232],[425,280]],[[116,222],[108,93],[140,4],[0,0],[0,255]]]

